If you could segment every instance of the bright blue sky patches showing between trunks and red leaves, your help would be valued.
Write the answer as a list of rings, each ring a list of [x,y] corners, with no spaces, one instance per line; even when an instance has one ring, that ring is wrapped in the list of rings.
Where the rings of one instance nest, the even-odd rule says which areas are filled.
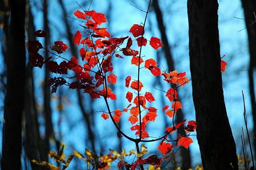
[[[82,0],[78,0],[78,4],[74,1],[63,0],[66,6],[66,9],[69,13],[69,16],[75,17],[73,12],[81,10],[78,4],[80,4],[85,10],[88,9],[89,4],[84,4]],[[35,25],[37,29],[43,29],[43,13],[40,9],[36,9],[35,7],[40,7],[41,1],[31,1],[32,4],[32,12],[35,17]],[[109,10],[109,2],[111,2],[111,10]],[[147,0],[140,1],[127,1],[127,0],[93,0],[90,9],[94,9],[96,12],[107,14],[109,18],[107,18],[109,24],[103,24],[102,26],[108,27],[108,31],[111,33],[112,37],[121,37],[121,36],[132,36],[132,34],[128,33],[130,27],[133,24],[141,24],[144,22],[145,13],[139,11],[130,3],[134,4],[136,7],[141,8],[143,10],[147,9]],[[186,71],[187,77],[190,79],[190,71],[189,71],[189,55],[188,55],[188,22],[187,22],[187,3],[186,1],[180,0],[159,0],[161,10],[163,11],[163,18],[165,22],[165,27],[167,31],[167,35],[169,38],[169,43],[171,44],[172,54],[175,61],[175,68],[178,72]],[[50,31],[52,35],[52,44],[55,40],[62,40],[64,43],[69,42],[69,40],[63,38],[65,35],[65,29],[63,29],[64,25],[62,22],[62,11],[58,5],[57,0],[49,0],[49,24]],[[83,6],[85,5],[85,6]],[[82,10],[81,10],[82,11]],[[232,128],[232,132],[234,138],[237,143],[237,150],[241,148],[241,141],[239,135],[241,135],[241,127],[244,126],[243,120],[243,100],[242,93],[244,91],[245,94],[245,102],[247,106],[247,118],[249,125],[251,127],[252,117],[250,115],[250,101],[249,101],[249,85],[248,85],[248,74],[246,70],[249,64],[249,53],[248,53],[248,42],[247,42],[247,32],[246,30],[239,30],[245,28],[244,20],[240,20],[234,18],[234,16],[239,18],[244,18],[243,9],[241,6],[241,2],[239,0],[219,0],[219,35],[220,35],[220,44],[221,44],[221,56],[225,55],[223,60],[225,60],[228,65],[226,66],[226,73],[222,73],[223,75],[223,89],[224,89],[224,98],[226,102],[226,108],[228,113],[228,118],[230,120],[230,125]],[[78,29],[82,31],[82,27],[78,24],[81,24],[77,20],[73,20],[68,18],[70,23],[72,23],[72,32],[76,33]],[[252,14],[253,20],[253,14]],[[146,27],[145,27],[145,37],[150,39],[150,37],[160,37],[160,33],[158,31],[158,25],[156,22],[156,16],[154,11],[149,13]],[[136,48],[136,46],[132,46]],[[142,55],[145,55],[147,58],[156,59],[156,51],[152,49],[149,44],[142,50]],[[63,55],[63,57],[70,58],[69,50],[67,53]],[[113,73],[118,76],[118,80],[121,83],[117,83],[115,85],[115,93],[120,99],[115,103],[110,102],[112,104],[112,109],[122,109],[125,108],[129,103],[125,99],[124,91],[127,91],[124,88],[124,79],[127,75],[136,76],[137,72],[134,71],[136,67],[128,66],[126,63],[130,62],[130,58],[125,58],[124,60],[117,60],[114,64]],[[158,60],[159,67],[163,65],[164,68],[167,68],[166,60],[164,56],[160,56]],[[141,81],[145,86],[145,91],[152,91],[156,101],[160,101],[161,95],[165,95],[160,91],[154,90],[154,76],[149,73],[148,70],[143,70],[141,73]],[[43,93],[41,90],[41,82],[43,81],[43,71],[39,68],[34,69],[35,75],[35,84],[37,88],[37,99],[38,103],[43,104]],[[54,76],[54,75],[53,75]],[[209,75],[210,76],[210,75]],[[147,86],[146,86],[147,85]],[[163,84],[165,90],[168,90],[169,86],[167,84]],[[59,116],[59,111],[56,110],[57,101],[53,100],[52,108],[53,108],[53,120],[55,122],[55,130],[58,132],[58,128],[61,130],[61,134],[63,136],[63,143],[67,146],[67,154],[71,152],[70,148],[78,150],[80,152],[84,152],[86,146],[86,137],[85,134],[85,126],[82,122],[82,114],[78,109],[78,103],[76,99],[75,90],[65,90],[65,99],[66,105],[63,110],[63,114]],[[191,91],[191,83],[186,84],[184,88],[181,88],[179,91],[180,98],[182,99],[183,112],[185,113],[185,118],[187,120],[195,120],[195,111],[193,108],[193,99],[192,99],[192,91]],[[58,95],[58,91],[54,96]],[[85,95],[87,96],[87,95]],[[87,96],[88,97],[88,96]],[[166,97],[164,97],[166,98]],[[166,104],[168,103],[168,99],[164,101]],[[162,102],[154,102],[152,106],[159,107],[161,110]],[[106,109],[104,105],[104,101],[98,99],[94,101],[93,108],[96,111]],[[88,108],[89,109],[89,108]],[[3,115],[1,113],[1,115]],[[95,114],[95,124],[97,136],[100,141],[104,141],[104,145],[106,146],[106,152],[108,153],[108,148],[115,148],[117,143],[117,138],[115,137],[117,130],[115,130],[113,124],[110,120],[104,121],[102,117],[100,117],[101,113],[96,112]],[[124,128],[123,131],[128,135],[135,137],[134,132],[130,131],[131,124],[127,121],[128,114],[124,114],[121,118]],[[159,135],[159,131],[163,131],[163,119],[167,119],[163,115],[158,115],[156,121],[154,123],[148,124],[148,132],[150,134],[156,134],[156,137]],[[221,119],[221,118],[220,118]],[[61,120],[61,123],[57,126],[57,122]],[[67,124],[72,124],[72,128],[67,126]],[[43,129],[43,128],[42,128]],[[109,136],[114,136],[113,138]],[[194,143],[191,144],[190,149],[193,153],[193,165],[197,165],[200,163],[200,153],[197,144],[196,137],[192,137]],[[129,143],[127,140],[122,139],[123,146],[126,150],[134,149],[134,144]],[[147,144],[151,151],[157,148],[158,143]],[[100,148],[98,148],[99,150]],[[241,153],[241,152],[240,152]],[[158,152],[160,154],[160,152]],[[82,161],[81,161],[82,162]]]

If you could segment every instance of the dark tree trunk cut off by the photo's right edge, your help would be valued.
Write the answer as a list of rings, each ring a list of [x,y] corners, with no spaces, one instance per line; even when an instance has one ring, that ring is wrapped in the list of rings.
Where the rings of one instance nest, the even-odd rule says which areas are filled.
[[[243,10],[245,13],[245,23],[247,27],[247,35],[249,41],[249,52],[250,52],[250,65],[249,65],[249,88],[250,88],[250,98],[253,110],[253,121],[256,123],[256,101],[254,93],[254,78],[253,72],[256,68],[256,23],[249,26],[252,22],[248,20],[255,20],[253,12],[256,13],[256,0],[241,0],[243,4]],[[254,155],[256,155],[256,136],[254,133]]]

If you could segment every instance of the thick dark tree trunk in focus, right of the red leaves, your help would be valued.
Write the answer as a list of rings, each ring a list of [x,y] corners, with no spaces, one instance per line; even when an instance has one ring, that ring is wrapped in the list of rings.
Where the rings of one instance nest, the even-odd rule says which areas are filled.
[[[188,0],[189,58],[197,140],[204,170],[238,170],[224,103],[217,0]]]

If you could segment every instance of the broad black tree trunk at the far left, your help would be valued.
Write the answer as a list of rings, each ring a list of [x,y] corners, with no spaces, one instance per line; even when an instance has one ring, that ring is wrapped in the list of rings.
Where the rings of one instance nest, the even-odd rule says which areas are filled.
[[[21,121],[24,109],[25,86],[25,0],[10,0],[9,52],[7,63],[7,91],[4,103],[4,139],[2,170],[21,169]]]

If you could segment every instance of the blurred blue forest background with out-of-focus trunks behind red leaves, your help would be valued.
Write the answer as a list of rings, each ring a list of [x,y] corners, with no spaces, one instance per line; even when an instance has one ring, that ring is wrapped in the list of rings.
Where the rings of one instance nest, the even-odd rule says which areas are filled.
[[[256,20],[253,15],[253,9],[256,12],[256,2],[253,1],[219,0],[218,11],[220,54],[221,56],[225,55],[222,60],[228,63],[225,73],[222,73],[224,99],[226,112],[236,142],[237,154],[240,155],[243,153],[240,137],[241,128],[245,127],[244,121],[241,121],[243,120],[244,111],[242,90],[245,94],[251,140],[254,137],[252,110],[256,110],[254,95],[256,81],[255,76],[253,76],[253,69],[255,70],[256,66],[256,24],[247,27]],[[56,93],[51,93],[52,89],[45,82],[49,76],[53,76],[52,73],[44,67],[42,69],[33,68],[28,60],[27,51],[26,71],[17,71],[16,73],[26,78],[24,105],[19,104],[19,95],[22,95],[20,88],[22,89],[22,87],[18,87],[18,84],[11,87],[12,95],[6,96],[8,91],[8,43],[11,44],[11,48],[17,50],[16,55],[19,55],[19,44],[9,42],[6,38],[9,36],[9,27],[12,27],[9,25],[10,5],[20,2],[19,0],[0,2],[0,39],[2,42],[0,45],[0,132],[2,134],[0,136],[2,139],[4,138],[6,118],[4,103],[9,97],[11,98],[10,100],[17,104],[17,108],[21,110],[24,108],[22,117],[19,117],[22,120],[22,133],[19,134],[17,132],[18,135],[17,133],[9,133],[12,136],[14,145],[15,142],[19,141],[19,137],[22,139],[22,170],[45,169],[45,167],[31,164],[30,161],[32,159],[47,160],[47,153],[50,150],[58,151],[63,145],[66,155],[71,154],[72,150],[83,153],[85,148],[98,154],[108,153],[109,148],[117,152],[122,151],[122,148],[126,150],[134,149],[134,145],[130,144],[130,141],[117,137],[115,126],[111,121],[105,121],[100,117],[101,112],[99,111],[105,107],[103,101],[101,103],[100,100],[92,100],[89,94],[83,94],[82,91],[69,90],[64,86],[59,87]],[[104,27],[108,28],[111,37],[122,37],[127,34],[133,24],[139,24],[144,21],[145,14],[139,9],[145,9],[147,5],[148,0],[78,0],[77,2],[70,0],[26,0],[26,6],[23,6],[26,11],[24,27],[26,40],[33,39],[33,33],[36,30],[45,30],[48,33],[48,37],[45,41],[40,40],[43,46],[49,47],[54,44],[54,41],[61,40],[70,47],[63,57],[79,57],[79,49],[74,46],[72,41],[76,31],[82,29],[82,27],[79,25],[81,23],[74,19],[76,18],[73,14],[74,11],[82,11],[81,7],[88,10],[90,7],[90,10],[106,14],[108,24],[104,25]],[[19,5],[15,7],[18,13],[21,7]],[[150,9],[152,11],[148,15],[145,35],[161,38],[164,46],[157,51],[146,46],[143,48],[143,55],[154,58],[160,69],[164,66],[165,69],[169,70],[186,71],[187,77],[190,79],[187,2],[180,0],[153,0]],[[234,16],[237,18],[234,18]],[[245,22],[245,20],[239,18],[251,21]],[[245,27],[247,29],[244,29]],[[45,55],[47,54],[45,53]],[[125,79],[127,73],[130,75],[136,74],[133,71],[134,69],[126,64],[125,60],[114,62],[113,65],[116,70],[119,70],[115,74],[121,79]],[[16,68],[12,69],[15,70]],[[12,76],[15,81],[15,75]],[[154,97],[158,101],[156,105],[167,105],[168,100],[163,97],[163,93],[156,91],[154,87],[164,88],[169,87],[169,85],[163,84],[159,77],[156,77],[153,81],[148,78],[147,74],[141,75],[141,77],[144,83],[151,87],[149,90],[154,91]],[[117,83],[116,86],[112,87],[112,91],[117,95],[123,96],[123,99],[125,99],[124,90],[124,82]],[[175,121],[180,122],[185,118],[187,120],[195,120],[191,83],[181,87],[179,95],[184,107],[182,112],[176,115]],[[125,108],[128,105],[126,101],[122,100],[110,102],[109,104],[113,108],[117,108],[117,106]],[[162,131],[168,124],[171,124],[165,118],[164,115],[158,115],[155,124],[148,126],[148,132],[158,134],[160,130]],[[16,120],[15,116],[11,119]],[[130,126],[128,123],[130,122],[123,119],[120,121],[119,126]],[[15,121],[13,121],[13,126],[15,124]],[[219,124],[215,124],[215,126],[219,128]],[[132,131],[127,131],[126,133],[131,136],[134,135]],[[198,163],[201,163],[197,138],[196,136],[191,136],[191,138],[194,143],[189,146],[188,150],[181,148],[167,168],[176,169],[181,167],[182,170],[187,170],[187,168],[191,167],[194,169]],[[2,141],[0,140],[0,146],[3,145]],[[245,142],[247,143],[247,141]],[[255,150],[254,146],[253,144],[252,147]],[[161,155],[161,152],[156,150],[158,143],[147,144],[147,147],[150,148],[150,151],[154,151],[154,153],[149,154]],[[2,147],[0,147],[0,152],[2,153]],[[256,152],[253,151],[253,153],[256,156]],[[9,154],[13,155],[14,158],[15,156],[19,157],[19,155],[15,155],[15,152]],[[79,159],[74,159],[69,169],[79,170],[86,167],[86,163]],[[113,166],[113,169],[118,168]]]

